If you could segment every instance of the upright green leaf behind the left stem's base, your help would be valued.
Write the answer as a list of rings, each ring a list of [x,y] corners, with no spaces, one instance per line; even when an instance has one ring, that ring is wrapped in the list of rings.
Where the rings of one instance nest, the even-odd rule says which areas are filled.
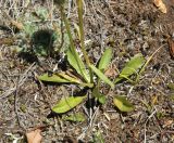
[[[76,72],[84,77],[87,82],[90,82],[89,75],[86,72],[86,67],[80,60],[78,53],[75,50],[67,50],[67,61],[76,69]]]

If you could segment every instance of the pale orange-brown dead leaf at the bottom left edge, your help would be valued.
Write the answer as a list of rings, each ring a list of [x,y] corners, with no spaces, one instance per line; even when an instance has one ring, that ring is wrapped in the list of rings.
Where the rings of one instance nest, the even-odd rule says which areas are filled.
[[[41,129],[36,129],[26,133],[28,143],[41,143]]]

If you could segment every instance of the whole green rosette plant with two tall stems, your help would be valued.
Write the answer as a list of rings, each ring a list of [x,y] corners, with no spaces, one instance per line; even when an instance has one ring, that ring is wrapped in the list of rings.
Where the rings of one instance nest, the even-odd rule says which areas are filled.
[[[87,92],[85,92],[84,95],[63,96],[61,101],[52,107],[52,110],[58,114],[66,113],[82,102],[87,101],[89,94],[100,104],[104,104],[107,95],[100,92],[101,82],[107,83],[111,89],[114,89],[114,83],[117,83],[122,79],[129,79],[128,77],[137,73],[137,69],[140,68],[145,62],[142,55],[137,54],[127,63],[127,66],[122,70],[120,76],[111,81],[111,79],[104,75],[104,72],[108,69],[111,62],[112,49],[107,48],[97,64],[89,60],[85,48],[83,0],[76,0],[79,26],[78,38],[80,41],[80,52],[83,53],[83,56],[79,56],[73,40],[70,21],[65,14],[64,2],[65,0],[54,0],[69,35],[70,48],[66,51],[66,57],[72,70],[53,73],[51,76],[49,74],[44,74],[39,76],[38,79],[41,81],[76,84],[79,86],[82,90],[87,89]],[[113,104],[122,112],[130,112],[134,109],[134,106],[124,96],[117,95],[113,98]]]

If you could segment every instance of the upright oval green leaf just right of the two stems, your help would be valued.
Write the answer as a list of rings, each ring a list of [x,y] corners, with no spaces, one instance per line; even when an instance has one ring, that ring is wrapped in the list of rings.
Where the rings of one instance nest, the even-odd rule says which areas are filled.
[[[99,62],[99,69],[104,70],[109,66],[112,58],[112,49],[107,49],[102,54],[100,62]]]

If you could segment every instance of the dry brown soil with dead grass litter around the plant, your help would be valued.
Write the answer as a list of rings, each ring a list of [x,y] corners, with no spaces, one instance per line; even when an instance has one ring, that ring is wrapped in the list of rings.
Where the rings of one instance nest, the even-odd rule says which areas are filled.
[[[30,37],[23,29],[17,29],[20,25],[10,23],[14,20],[23,25],[33,24],[39,29],[58,30],[61,22],[58,9],[47,0],[32,0],[29,3],[1,0],[0,142],[14,140],[7,133],[23,136],[18,142],[26,142],[26,131],[39,127],[44,128],[44,143],[174,142],[174,88],[169,88],[174,82],[174,52],[169,44],[169,41],[174,43],[174,1],[163,1],[167,9],[165,14],[154,6],[152,0],[85,0],[85,39],[90,40],[87,51],[91,61],[97,62],[104,49],[111,47],[111,65],[121,70],[136,53],[142,53],[148,58],[159,50],[137,84],[124,81],[114,90],[103,84],[107,104],[94,105],[90,112],[87,103],[80,104],[66,115],[82,112],[86,121],[71,122],[62,120],[64,115],[53,114],[51,107],[63,95],[78,92],[79,88],[45,84],[37,79],[38,75],[53,72],[55,67],[61,69],[60,57],[63,58],[61,54],[64,50],[60,57],[42,57],[27,52],[21,54],[16,49],[30,49]],[[37,11],[40,9],[49,16],[39,16]],[[73,23],[77,23],[75,1],[69,0],[66,12],[74,28]],[[29,20],[28,15],[36,18]],[[77,39],[76,35],[74,37]],[[78,44],[78,40],[75,41]],[[60,43],[57,44],[54,47]],[[119,112],[112,103],[115,94],[126,95],[135,105],[135,110]]]

